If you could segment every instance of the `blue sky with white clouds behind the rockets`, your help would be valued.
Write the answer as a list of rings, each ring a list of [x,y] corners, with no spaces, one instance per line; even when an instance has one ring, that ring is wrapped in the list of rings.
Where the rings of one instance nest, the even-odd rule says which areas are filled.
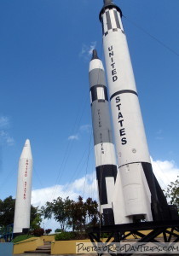
[[[1,199],[15,195],[26,138],[34,204],[57,195],[95,196],[88,69],[94,47],[104,61],[102,3],[0,1]],[[125,16],[153,166],[169,183],[179,170],[179,2],[115,3]]]

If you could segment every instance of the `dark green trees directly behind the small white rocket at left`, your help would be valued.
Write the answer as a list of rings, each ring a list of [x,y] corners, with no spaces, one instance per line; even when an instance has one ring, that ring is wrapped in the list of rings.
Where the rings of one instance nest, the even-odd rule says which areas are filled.
[[[0,200],[0,227],[6,227],[9,224],[14,223],[14,206],[15,199],[10,195],[4,200]],[[38,211],[38,207],[31,206],[31,223],[35,221],[36,218],[39,217],[40,212]],[[40,224],[41,220],[36,219],[36,223]]]

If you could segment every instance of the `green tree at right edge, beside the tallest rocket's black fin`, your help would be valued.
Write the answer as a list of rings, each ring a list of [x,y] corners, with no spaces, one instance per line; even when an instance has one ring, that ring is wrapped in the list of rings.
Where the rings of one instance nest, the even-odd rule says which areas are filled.
[[[179,176],[177,176],[175,182],[171,182],[167,186],[165,196],[168,198],[170,204],[176,205],[179,212]]]

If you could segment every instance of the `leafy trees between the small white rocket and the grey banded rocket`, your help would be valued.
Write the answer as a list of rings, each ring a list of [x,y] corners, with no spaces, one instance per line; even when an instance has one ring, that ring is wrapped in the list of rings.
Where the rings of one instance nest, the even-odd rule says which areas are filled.
[[[54,217],[60,223],[61,231],[71,227],[72,231],[82,232],[86,224],[95,226],[100,217],[97,202],[92,198],[83,201],[81,195],[78,196],[78,201],[72,201],[69,197],[65,200],[58,197],[52,202],[47,201],[41,210],[44,218]]]

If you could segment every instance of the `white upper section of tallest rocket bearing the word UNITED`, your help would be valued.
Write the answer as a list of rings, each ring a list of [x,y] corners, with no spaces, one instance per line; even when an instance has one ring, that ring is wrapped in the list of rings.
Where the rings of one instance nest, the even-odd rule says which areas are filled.
[[[118,47],[118,44],[120,44],[120,47]],[[110,97],[118,90],[136,91],[125,34],[121,30],[116,32],[111,30],[107,32],[106,36],[103,36],[103,45],[104,49],[106,49],[105,60],[107,62],[108,83],[113,83],[113,87],[109,87]]]

